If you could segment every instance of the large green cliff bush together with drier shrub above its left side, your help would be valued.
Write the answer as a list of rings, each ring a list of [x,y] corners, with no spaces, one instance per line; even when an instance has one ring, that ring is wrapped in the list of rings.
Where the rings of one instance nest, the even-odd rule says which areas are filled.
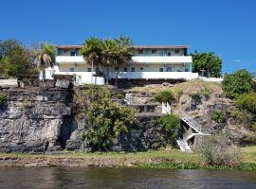
[[[109,91],[101,86],[85,89],[76,94],[80,114],[86,117],[83,139],[94,151],[108,150],[120,134],[137,124],[135,112],[112,102]]]

